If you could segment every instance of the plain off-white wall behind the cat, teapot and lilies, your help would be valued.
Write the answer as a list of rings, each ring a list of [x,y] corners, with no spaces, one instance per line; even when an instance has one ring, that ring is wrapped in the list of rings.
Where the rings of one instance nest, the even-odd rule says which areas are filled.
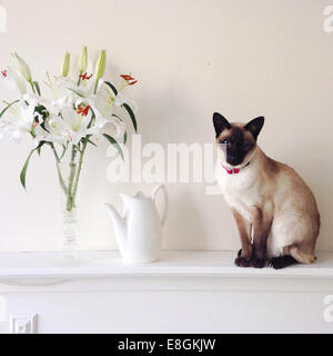
[[[108,50],[108,76],[132,72],[143,141],[212,142],[212,112],[250,120],[263,115],[260,145],[292,165],[312,187],[322,215],[320,249],[333,249],[333,33],[322,28],[326,0],[2,0],[10,52],[36,78],[59,69],[64,50]],[[108,77],[107,76],[107,77]],[[0,89],[0,98],[9,93]],[[59,191],[52,156],[34,157],[28,194],[19,171],[29,150],[0,142],[0,250],[61,248]],[[115,248],[102,202],[117,191],[105,178],[107,145],[91,149],[81,194],[81,247]],[[149,186],[142,187],[145,191]],[[238,234],[219,196],[205,185],[170,184],[165,248],[235,249]]]

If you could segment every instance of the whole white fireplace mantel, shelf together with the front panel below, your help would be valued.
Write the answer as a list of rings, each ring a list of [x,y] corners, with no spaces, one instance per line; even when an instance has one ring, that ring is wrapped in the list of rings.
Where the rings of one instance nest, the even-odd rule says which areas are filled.
[[[0,296],[8,323],[38,315],[40,333],[333,332],[333,253],[281,270],[236,267],[235,255],[165,250],[132,265],[118,251],[2,253]]]

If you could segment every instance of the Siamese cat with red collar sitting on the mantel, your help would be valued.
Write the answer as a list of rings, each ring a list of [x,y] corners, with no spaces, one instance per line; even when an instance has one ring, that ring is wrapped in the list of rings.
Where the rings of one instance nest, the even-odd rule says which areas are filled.
[[[264,125],[229,122],[213,115],[216,179],[238,225],[241,250],[235,265],[283,268],[315,260],[320,214],[314,196],[289,166],[268,157],[256,144]]]

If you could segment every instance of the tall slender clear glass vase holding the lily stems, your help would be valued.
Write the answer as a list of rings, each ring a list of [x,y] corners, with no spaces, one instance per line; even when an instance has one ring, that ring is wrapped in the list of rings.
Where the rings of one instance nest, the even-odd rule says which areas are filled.
[[[57,172],[61,190],[62,250],[65,257],[78,254],[78,190],[82,169],[82,155],[75,146],[69,146],[57,161]]]

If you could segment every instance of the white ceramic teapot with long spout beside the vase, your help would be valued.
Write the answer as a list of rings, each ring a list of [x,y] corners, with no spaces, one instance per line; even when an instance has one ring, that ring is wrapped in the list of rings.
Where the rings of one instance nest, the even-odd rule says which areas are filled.
[[[157,195],[164,192],[164,209],[160,217]],[[138,191],[134,196],[120,194],[124,217],[109,204],[107,208],[114,225],[115,238],[122,257],[131,263],[152,263],[160,257],[162,228],[167,217],[168,194],[163,185],[153,189],[150,196]]]

